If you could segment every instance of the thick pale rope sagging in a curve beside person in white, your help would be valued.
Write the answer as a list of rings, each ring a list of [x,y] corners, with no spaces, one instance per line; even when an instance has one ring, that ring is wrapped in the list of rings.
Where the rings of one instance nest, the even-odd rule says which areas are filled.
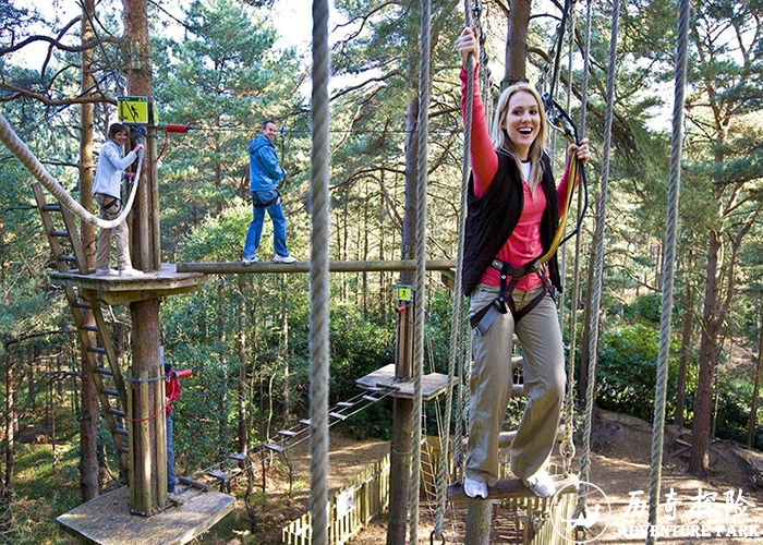
[[[13,131],[13,128],[11,128],[10,123],[2,113],[0,113],[0,141],[13,155],[16,156],[16,158],[22,162],[22,165],[24,165],[24,167],[26,167],[32,175],[34,175],[50,192],[51,195],[58,198],[62,206],[69,208],[83,221],[93,223],[101,229],[113,229],[122,223],[126,219],[128,214],[130,214],[133,206],[133,201],[135,201],[135,194],[137,193],[137,183],[141,180],[141,170],[143,169],[143,150],[137,153],[137,170],[135,172],[135,179],[133,181],[133,187],[130,192],[130,197],[128,198],[128,203],[124,206],[122,214],[120,214],[116,219],[105,220],[98,216],[94,216],[83,208],[83,206],[77,203],[52,175],[50,175],[50,172],[48,172],[45,166],[37,159],[37,157],[35,157],[26,144],[24,144],[19,135]]]

